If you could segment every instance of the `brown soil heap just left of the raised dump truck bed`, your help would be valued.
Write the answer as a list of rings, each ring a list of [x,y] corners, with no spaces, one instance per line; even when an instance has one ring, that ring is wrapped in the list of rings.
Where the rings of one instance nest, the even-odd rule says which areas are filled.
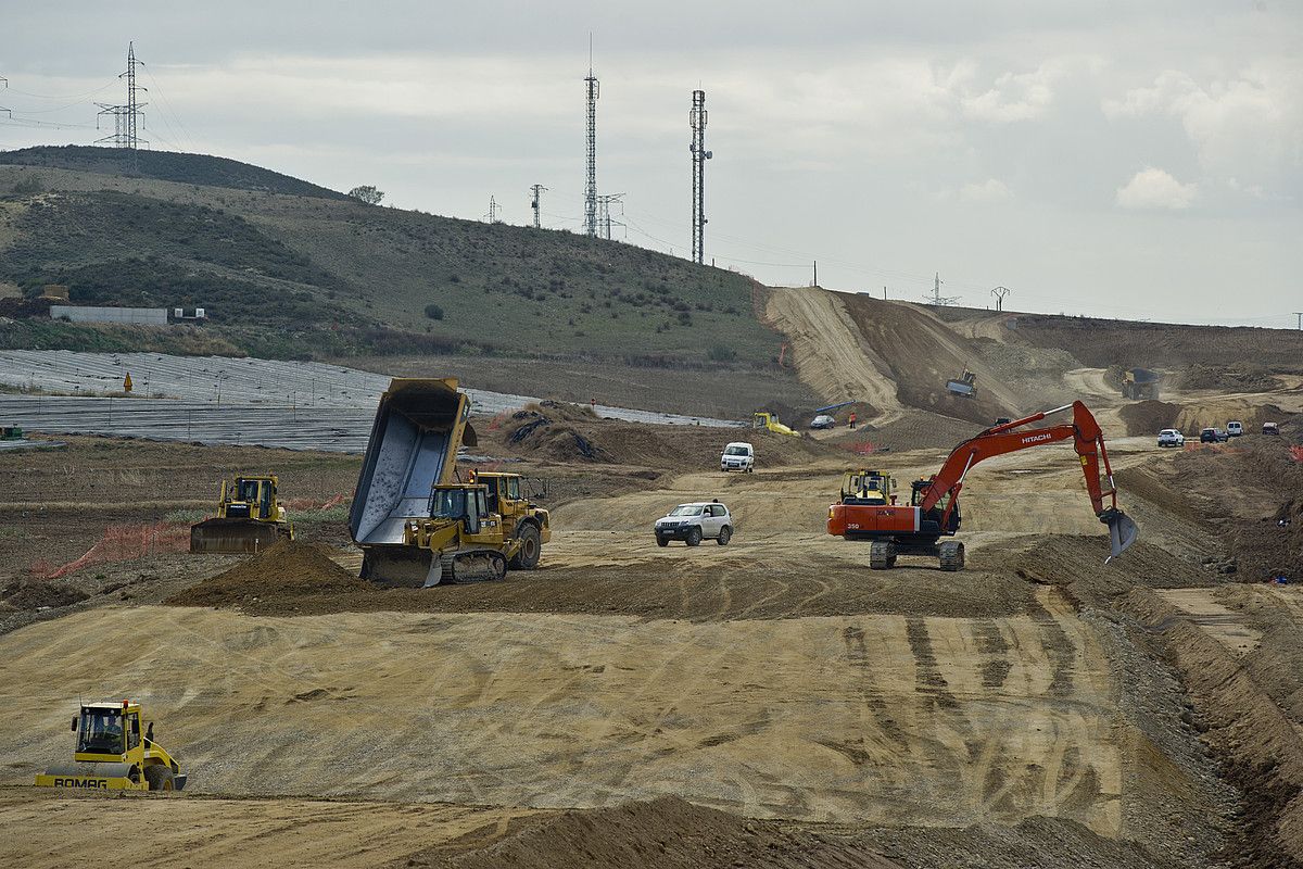
[[[164,601],[172,606],[236,607],[313,594],[374,591],[334,560],[323,543],[281,541],[224,573]],[[292,608],[292,607],[289,607]]]

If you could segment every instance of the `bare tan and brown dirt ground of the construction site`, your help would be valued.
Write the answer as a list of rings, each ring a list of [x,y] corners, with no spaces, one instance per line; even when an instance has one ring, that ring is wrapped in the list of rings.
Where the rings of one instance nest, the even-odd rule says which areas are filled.
[[[358,580],[356,459],[109,439],[0,456],[0,701],[25,710],[0,735],[0,823],[29,831],[0,857],[94,859],[130,818],[158,842],[142,865],[1298,865],[1299,380],[1165,392],[1191,422],[1285,414],[1281,438],[1167,451],[1152,408],[1102,367],[1027,350],[1009,317],[788,301],[771,315],[840,330],[796,353],[803,378],[860,348],[872,425],[747,431],[757,472],[730,476],[731,430],[550,404],[478,420],[487,466],[551,483],[541,569],[498,582]],[[902,330],[980,370],[988,399],[958,417],[926,399],[946,366],[877,343]],[[846,468],[907,485],[986,414],[1072,397],[1140,528],[1121,558],[1105,563],[1065,444],[969,473],[962,573],[869,571],[865,545],[825,533]],[[297,543],[175,548],[222,476],[265,469]],[[658,547],[652,522],[702,498],[730,507],[732,541]],[[154,530],[122,558],[121,528]],[[188,792],[29,787],[66,760],[77,698],[120,696],[143,701]]]

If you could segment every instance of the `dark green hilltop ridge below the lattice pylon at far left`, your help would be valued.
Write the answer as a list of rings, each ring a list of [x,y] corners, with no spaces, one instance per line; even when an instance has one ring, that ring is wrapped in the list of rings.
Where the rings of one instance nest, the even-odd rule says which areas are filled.
[[[138,176],[158,181],[202,184],[205,186],[255,190],[259,193],[283,193],[318,199],[348,198],[336,190],[281,175],[280,172],[207,154],[149,150],[130,151],[128,149],[94,147],[87,145],[39,145],[16,151],[0,151],[0,164],[38,165],[113,176]]]

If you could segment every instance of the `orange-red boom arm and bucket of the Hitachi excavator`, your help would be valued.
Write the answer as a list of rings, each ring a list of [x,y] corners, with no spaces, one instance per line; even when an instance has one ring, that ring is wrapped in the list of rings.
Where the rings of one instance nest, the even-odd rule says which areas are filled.
[[[1072,410],[1071,423],[1019,430],[1068,409]],[[979,461],[1063,440],[1072,440],[1081,463],[1081,473],[1085,476],[1085,489],[1091,495],[1091,506],[1100,521],[1109,526],[1109,539],[1113,546],[1110,558],[1117,558],[1135,542],[1138,532],[1135,522],[1118,509],[1118,490],[1113,483],[1113,468],[1109,465],[1109,452],[1104,446],[1104,433],[1089,408],[1080,401],[993,426],[964,440],[954,448],[945,464],[941,465],[941,470],[932,477],[930,485],[923,492],[919,508],[926,513],[945,499],[946,507],[942,515],[942,526],[945,526],[950,520],[950,513],[959,503],[958,495],[959,490],[963,489],[964,477]],[[1101,483],[1101,465],[1108,489]]]

